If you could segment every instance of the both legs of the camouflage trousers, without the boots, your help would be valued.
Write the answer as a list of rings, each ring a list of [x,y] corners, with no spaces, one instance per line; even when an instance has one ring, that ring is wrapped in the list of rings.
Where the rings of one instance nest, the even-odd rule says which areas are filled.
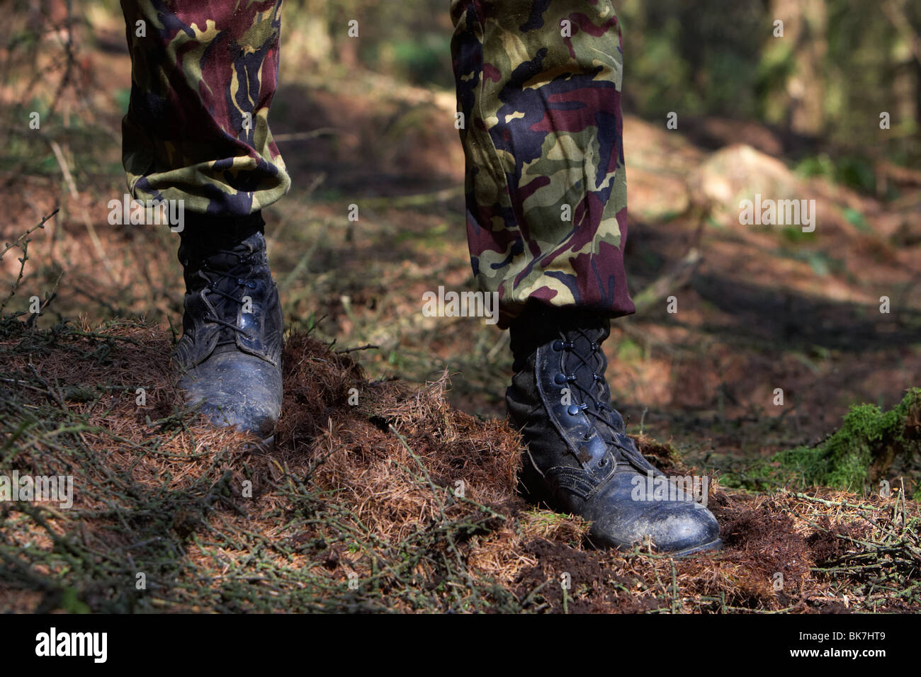
[[[281,5],[122,0],[132,55],[122,157],[135,198],[244,216],[286,193],[268,126]],[[633,312],[610,0],[451,0],[450,12],[467,239],[500,326],[529,299]]]

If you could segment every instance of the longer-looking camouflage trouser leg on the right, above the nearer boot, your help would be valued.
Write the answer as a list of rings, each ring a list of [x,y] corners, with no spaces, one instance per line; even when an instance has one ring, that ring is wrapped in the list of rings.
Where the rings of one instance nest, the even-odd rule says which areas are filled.
[[[467,237],[500,324],[528,299],[633,312],[610,0],[452,0],[451,18]]]

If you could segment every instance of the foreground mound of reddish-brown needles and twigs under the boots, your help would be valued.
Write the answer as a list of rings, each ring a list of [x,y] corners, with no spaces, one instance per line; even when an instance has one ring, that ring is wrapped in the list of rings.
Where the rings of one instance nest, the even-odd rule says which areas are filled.
[[[726,549],[598,552],[516,493],[519,438],[288,337],[277,449],[184,412],[169,334],[140,322],[0,327],[0,475],[71,475],[72,508],[0,506],[16,611],[918,610],[918,513],[899,491],[710,484]],[[142,390],[143,389],[143,390]],[[669,472],[668,445],[639,439]]]

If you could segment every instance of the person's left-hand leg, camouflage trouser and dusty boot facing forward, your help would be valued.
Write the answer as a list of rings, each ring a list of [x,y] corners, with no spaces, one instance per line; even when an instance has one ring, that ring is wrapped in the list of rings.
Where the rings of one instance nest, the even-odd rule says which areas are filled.
[[[280,0],[122,0],[132,92],[122,159],[134,198],[187,212],[175,363],[189,403],[270,443],[282,311],[260,210],[290,181],[268,127]]]

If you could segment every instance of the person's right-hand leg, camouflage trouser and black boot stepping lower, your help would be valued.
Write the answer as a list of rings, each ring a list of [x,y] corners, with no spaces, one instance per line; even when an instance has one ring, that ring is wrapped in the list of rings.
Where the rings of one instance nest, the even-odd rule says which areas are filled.
[[[510,326],[510,418],[534,498],[601,546],[690,554],[719,527],[662,476],[612,407],[601,344],[626,288],[623,53],[610,0],[454,0],[473,271]],[[658,480],[658,481],[657,481]]]

